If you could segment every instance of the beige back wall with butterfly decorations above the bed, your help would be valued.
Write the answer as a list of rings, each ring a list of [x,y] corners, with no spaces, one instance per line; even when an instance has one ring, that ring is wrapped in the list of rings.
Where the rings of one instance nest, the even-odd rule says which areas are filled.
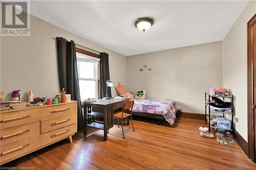
[[[173,99],[184,112],[204,113],[204,92],[222,85],[221,41],[127,58],[128,90],[146,90],[146,98]]]

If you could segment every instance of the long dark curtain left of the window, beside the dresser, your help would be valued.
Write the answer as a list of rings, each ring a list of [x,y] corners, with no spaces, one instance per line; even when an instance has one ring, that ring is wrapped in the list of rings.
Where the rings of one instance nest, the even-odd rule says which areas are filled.
[[[58,72],[60,89],[65,88],[66,94],[71,94],[71,100],[77,101],[77,130],[83,129],[83,116],[78,84],[76,50],[74,41],[56,37]]]

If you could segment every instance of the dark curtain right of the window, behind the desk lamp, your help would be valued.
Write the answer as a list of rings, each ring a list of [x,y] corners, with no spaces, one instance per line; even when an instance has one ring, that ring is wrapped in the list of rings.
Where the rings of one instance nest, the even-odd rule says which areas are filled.
[[[109,66],[109,54],[100,53],[100,86],[101,86],[101,96],[104,98],[106,96],[106,81],[110,80],[110,66]],[[111,95],[111,87],[108,87],[108,96]]]

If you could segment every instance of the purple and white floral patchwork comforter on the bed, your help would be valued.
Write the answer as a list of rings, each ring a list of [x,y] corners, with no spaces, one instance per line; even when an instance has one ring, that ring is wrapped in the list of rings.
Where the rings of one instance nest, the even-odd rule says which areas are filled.
[[[146,112],[153,114],[161,114],[165,120],[170,124],[174,124],[176,112],[181,110],[180,106],[172,100],[160,99],[135,99],[133,111]]]

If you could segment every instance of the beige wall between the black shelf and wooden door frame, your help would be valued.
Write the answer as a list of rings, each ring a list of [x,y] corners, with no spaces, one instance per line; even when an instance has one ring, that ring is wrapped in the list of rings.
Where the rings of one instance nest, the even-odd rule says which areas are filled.
[[[238,133],[247,141],[247,22],[256,12],[256,1],[250,1],[223,39],[223,85],[234,94],[235,123]]]

